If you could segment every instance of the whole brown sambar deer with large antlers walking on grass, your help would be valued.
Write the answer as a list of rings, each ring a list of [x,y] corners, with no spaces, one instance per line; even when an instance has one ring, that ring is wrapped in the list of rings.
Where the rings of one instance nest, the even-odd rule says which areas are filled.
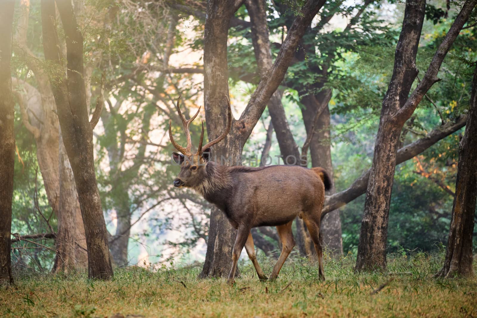
[[[237,229],[228,283],[232,284],[234,281],[237,261],[244,246],[259,279],[267,279],[257,262],[250,233],[250,229],[256,226],[277,227],[282,249],[270,280],[276,279],[295,246],[291,224],[296,216],[305,221],[310,232],[318,256],[319,277],[324,280],[320,218],[325,190],[331,186],[328,174],[322,168],[308,169],[296,165],[245,167],[219,165],[210,161],[210,147],[222,141],[232,125],[229,101],[228,125],[225,131],[217,139],[202,146],[204,139],[204,123],[202,123],[197,153],[192,154],[189,124],[197,117],[200,108],[192,118],[186,120],[180,111],[179,101],[176,107],[184,125],[187,147],[176,143],[169,120],[169,138],[174,147],[182,153],[172,154],[174,161],[180,164],[180,172],[174,180],[174,186],[194,189],[225,213],[230,224]]]

